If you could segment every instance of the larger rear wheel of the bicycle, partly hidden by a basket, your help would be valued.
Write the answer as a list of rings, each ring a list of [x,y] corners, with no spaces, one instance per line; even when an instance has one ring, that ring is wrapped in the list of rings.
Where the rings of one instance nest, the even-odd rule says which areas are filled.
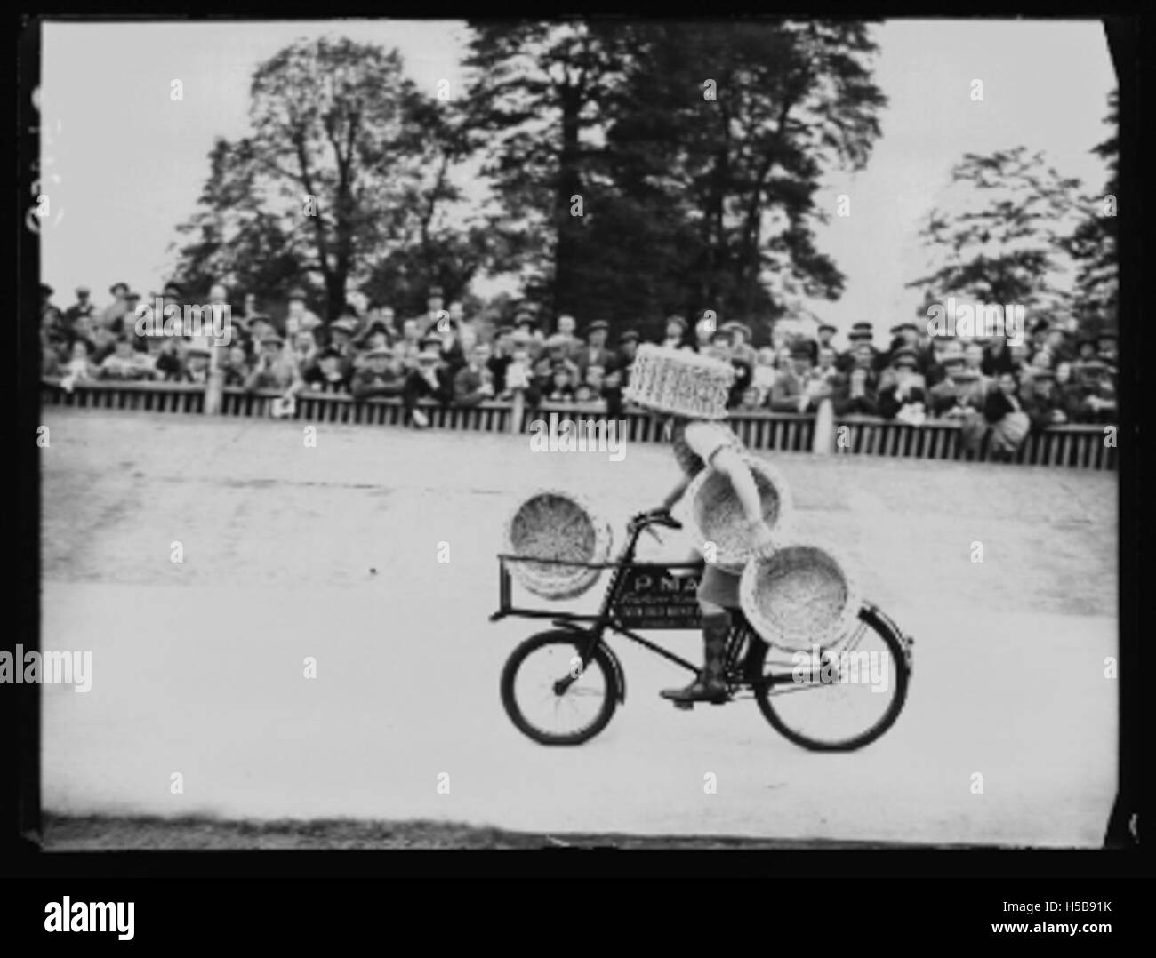
[[[853,751],[887,732],[903,710],[911,667],[898,630],[872,606],[838,640],[805,653],[758,640],[748,667],[763,716],[812,751]]]

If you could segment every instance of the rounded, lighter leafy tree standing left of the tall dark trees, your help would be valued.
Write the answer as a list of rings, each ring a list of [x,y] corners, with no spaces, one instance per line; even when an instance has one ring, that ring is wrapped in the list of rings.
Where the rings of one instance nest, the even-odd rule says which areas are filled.
[[[297,43],[257,68],[251,94],[252,135],[216,143],[200,209],[178,228],[181,275],[261,298],[317,277],[334,319],[349,282],[415,235],[428,262],[462,141],[397,51]]]

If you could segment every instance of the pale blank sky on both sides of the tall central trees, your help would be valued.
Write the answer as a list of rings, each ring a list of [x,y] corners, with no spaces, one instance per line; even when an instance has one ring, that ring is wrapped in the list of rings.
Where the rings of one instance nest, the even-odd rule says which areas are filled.
[[[249,132],[253,69],[287,44],[323,35],[395,46],[418,87],[433,94],[449,80],[451,95],[460,89],[466,29],[454,21],[45,25],[42,268],[58,305],[74,302],[79,284],[91,287],[97,304],[117,281],[142,295],[160,291],[175,226],[194,210],[213,141]],[[925,262],[917,233],[965,153],[1024,144],[1089,191],[1106,178],[1090,153],[1109,135],[1103,118],[1116,86],[1099,23],[906,20],[873,35],[875,82],[889,101],[882,135],[862,171],[829,171],[816,198],[832,214],[817,224],[816,242],[846,275],[846,289],[836,303],[805,305],[840,329],[913,314],[919,294],[904,283]],[[170,98],[175,79],[183,102]],[[971,97],[975,80],[984,84],[981,102]],[[850,216],[833,215],[839,195],[850,198]],[[502,288],[490,280],[474,291]]]

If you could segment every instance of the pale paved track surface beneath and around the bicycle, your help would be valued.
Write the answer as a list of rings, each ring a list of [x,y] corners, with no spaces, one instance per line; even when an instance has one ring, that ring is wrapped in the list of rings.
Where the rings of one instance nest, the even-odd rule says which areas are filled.
[[[799,532],[838,543],[916,637],[897,725],[859,752],[812,753],[750,701],[673,710],[658,690],[686,674],[622,643],[625,706],[588,744],[547,749],[498,699],[505,658],[543,625],[487,622],[503,521],[531,490],[571,488],[621,537],[676,480],[668,450],[631,445],[609,462],[480,433],[320,424],[306,448],[297,423],[44,422],[42,647],[92,652],[90,692],[43,686],[49,810],[1102,842],[1116,787],[1114,474],[778,455]],[[681,559],[687,544],[646,551]],[[694,633],[652,634],[699,654]]]

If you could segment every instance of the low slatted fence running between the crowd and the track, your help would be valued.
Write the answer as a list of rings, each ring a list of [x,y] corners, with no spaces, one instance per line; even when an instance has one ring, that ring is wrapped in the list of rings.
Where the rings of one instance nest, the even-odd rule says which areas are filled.
[[[279,393],[247,393],[227,387],[221,400],[222,416],[269,417]],[[205,386],[176,383],[81,383],[71,392],[58,379],[44,379],[45,406],[84,409],[136,409],[156,413],[205,413]],[[557,413],[561,417],[598,418],[601,408],[543,403],[523,415],[509,402],[483,402],[472,407],[442,407],[422,403],[430,424],[438,429],[475,432],[529,431],[534,418]],[[306,422],[354,425],[403,425],[405,410],[397,399],[354,400],[348,395],[303,393],[297,398],[295,418]],[[622,437],[633,443],[660,441],[654,419],[638,411],[620,418]],[[784,413],[734,413],[728,423],[751,450],[808,452],[815,444],[815,417]],[[845,426],[840,429],[840,426]],[[959,424],[928,419],[922,425],[906,425],[872,416],[836,417],[835,454],[904,456],[916,459],[988,459],[987,440],[977,452],[965,452],[959,444]],[[1105,444],[1102,425],[1059,425],[1031,435],[1014,460],[1030,466],[1066,466],[1085,469],[1116,469],[1117,450]]]

